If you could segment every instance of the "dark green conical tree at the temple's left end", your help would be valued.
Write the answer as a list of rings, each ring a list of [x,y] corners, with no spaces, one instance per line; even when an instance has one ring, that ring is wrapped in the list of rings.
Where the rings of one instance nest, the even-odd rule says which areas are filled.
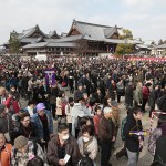
[[[11,54],[18,54],[20,52],[20,41],[18,39],[18,33],[15,31],[12,31],[10,33],[10,39],[9,39],[9,51]]]

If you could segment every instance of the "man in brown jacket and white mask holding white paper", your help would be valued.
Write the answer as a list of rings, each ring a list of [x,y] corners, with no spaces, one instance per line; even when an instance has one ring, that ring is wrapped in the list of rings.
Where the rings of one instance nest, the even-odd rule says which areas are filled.
[[[65,159],[69,156],[69,159]],[[53,166],[77,166],[81,154],[76,139],[69,135],[66,124],[61,124],[48,144],[48,159]]]

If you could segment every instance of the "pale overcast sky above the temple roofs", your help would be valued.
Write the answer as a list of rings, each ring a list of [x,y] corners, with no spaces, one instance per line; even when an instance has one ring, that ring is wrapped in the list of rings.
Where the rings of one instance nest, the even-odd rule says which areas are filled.
[[[0,0],[0,44],[10,32],[39,24],[69,32],[73,19],[132,30],[134,38],[166,40],[166,0]]]

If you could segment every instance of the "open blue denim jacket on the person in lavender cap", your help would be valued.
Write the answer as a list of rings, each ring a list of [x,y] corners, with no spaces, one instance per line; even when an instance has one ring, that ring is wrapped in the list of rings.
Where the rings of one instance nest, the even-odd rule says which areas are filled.
[[[44,112],[45,112],[46,118],[48,118],[49,133],[52,134],[53,133],[53,118],[52,118],[51,112],[46,111],[46,110]],[[38,113],[35,113],[32,116],[32,122],[34,122],[34,124],[37,126],[37,137],[43,138],[43,136],[44,136],[43,125],[42,125],[42,122],[41,122]]]

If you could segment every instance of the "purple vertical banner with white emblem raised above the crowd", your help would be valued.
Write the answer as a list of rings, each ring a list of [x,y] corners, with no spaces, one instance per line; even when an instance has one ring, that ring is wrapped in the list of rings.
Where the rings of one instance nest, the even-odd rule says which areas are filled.
[[[54,85],[55,84],[55,71],[54,69],[46,69],[45,73],[45,83],[46,85]]]

